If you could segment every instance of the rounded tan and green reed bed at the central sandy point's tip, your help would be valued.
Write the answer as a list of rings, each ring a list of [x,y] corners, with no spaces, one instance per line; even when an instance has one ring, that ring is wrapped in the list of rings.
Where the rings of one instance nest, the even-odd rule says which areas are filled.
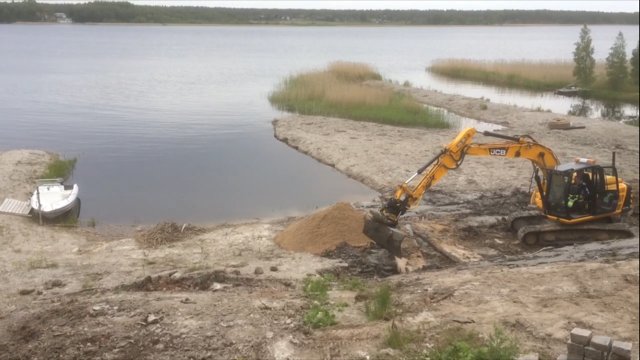
[[[389,87],[367,85],[368,80],[382,80],[382,76],[365,64],[335,62],[326,70],[286,78],[269,101],[280,110],[303,115],[400,126],[449,126],[442,112]]]

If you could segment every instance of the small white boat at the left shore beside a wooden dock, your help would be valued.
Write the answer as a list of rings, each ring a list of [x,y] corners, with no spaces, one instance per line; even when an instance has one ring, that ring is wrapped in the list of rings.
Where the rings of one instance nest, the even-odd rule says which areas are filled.
[[[64,185],[62,179],[38,180],[31,196],[31,208],[47,219],[58,217],[73,209],[78,199],[78,185]]]

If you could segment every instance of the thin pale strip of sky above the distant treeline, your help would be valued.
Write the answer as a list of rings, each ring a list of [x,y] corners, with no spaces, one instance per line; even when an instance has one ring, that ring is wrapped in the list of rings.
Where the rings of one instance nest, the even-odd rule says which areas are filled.
[[[2,1],[2,0],[0,0]],[[6,0],[5,0],[6,1]],[[50,3],[77,3],[78,0],[39,0]],[[233,8],[278,8],[278,9],[397,9],[397,10],[573,10],[603,12],[636,12],[638,0],[543,0],[543,1],[427,1],[427,0],[128,0],[139,5],[210,6]]]

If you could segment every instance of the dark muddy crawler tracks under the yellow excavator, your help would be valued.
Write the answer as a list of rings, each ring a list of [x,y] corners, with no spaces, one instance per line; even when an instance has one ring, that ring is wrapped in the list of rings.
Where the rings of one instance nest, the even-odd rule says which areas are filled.
[[[633,237],[624,223],[585,223],[564,225],[547,220],[534,212],[516,213],[510,216],[509,224],[520,242],[527,245],[562,246],[577,242],[604,241]]]

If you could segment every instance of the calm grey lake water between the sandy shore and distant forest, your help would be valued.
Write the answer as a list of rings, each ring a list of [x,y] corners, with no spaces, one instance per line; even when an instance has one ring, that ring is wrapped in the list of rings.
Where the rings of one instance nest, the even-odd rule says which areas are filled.
[[[593,26],[597,59],[618,31]],[[435,78],[440,58],[570,60],[579,26],[0,25],[0,150],[78,157],[82,218],[220,222],[375,193],[273,138],[287,75],[336,60],[385,78],[566,113],[574,101]],[[400,165],[399,165],[400,166]]]

